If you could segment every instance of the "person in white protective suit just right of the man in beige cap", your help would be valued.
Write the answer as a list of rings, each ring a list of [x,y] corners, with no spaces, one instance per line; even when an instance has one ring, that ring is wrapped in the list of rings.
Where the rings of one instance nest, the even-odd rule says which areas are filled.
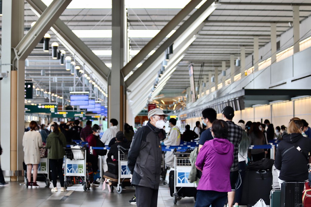
[[[171,130],[169,131],[168,139],[164,140],[164,145],[166,146],[176,146],[180,144],[180,132],[178,126],[176,126],[177,120],[172,118],[169,119],[169,126]],[[164,162],[166,167],[174,168],[174,155],[172,151],[167,151],[165,153]]]

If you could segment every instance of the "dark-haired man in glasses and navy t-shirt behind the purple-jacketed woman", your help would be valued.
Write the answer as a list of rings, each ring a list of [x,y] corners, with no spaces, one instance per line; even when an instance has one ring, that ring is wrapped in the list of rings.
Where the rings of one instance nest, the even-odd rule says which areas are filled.
[[[202,111],[202,124],[207,125],[207,130],[202,132],[199,140],[199,151],[204,143],[208,140],[214,139],[211,134],[210,128],[212,127],[213,121],[217,119],[217,113],[212,108],[206,108]]]

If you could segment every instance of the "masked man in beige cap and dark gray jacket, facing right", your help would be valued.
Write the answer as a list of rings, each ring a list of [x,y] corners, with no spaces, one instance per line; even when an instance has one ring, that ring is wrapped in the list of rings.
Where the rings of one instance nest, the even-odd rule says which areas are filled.
[[[134,134],[128,151],[128,168],[132,175],[132,185],[136,186],[138,207],[156,207],[160,185],[160,171],[163,126],[167,121],[160,109],[148,112],[149,122]]]

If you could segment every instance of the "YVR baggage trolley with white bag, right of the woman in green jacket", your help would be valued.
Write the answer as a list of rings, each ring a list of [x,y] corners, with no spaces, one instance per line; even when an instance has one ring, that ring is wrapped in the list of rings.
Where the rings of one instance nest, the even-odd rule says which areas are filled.
[[[86,155],[87,149],[84,149],[83,151],[83,148],[80,150],[66,148],[66,156],[64,157],[64,187],[66,189],[68,187],[67,176],[79,176],[84,178],[82,182],[83,190],[90,190],[91,184],[89,181],[88,173],[86,172]]]

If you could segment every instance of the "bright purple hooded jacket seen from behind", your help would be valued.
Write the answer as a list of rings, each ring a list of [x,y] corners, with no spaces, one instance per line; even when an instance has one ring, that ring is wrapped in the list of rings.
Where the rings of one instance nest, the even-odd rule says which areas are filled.
[[[197,155],[196,166],[202,170],[198,190],[230,192],[230,168],[234,145],[227,139],[206,141]]]

